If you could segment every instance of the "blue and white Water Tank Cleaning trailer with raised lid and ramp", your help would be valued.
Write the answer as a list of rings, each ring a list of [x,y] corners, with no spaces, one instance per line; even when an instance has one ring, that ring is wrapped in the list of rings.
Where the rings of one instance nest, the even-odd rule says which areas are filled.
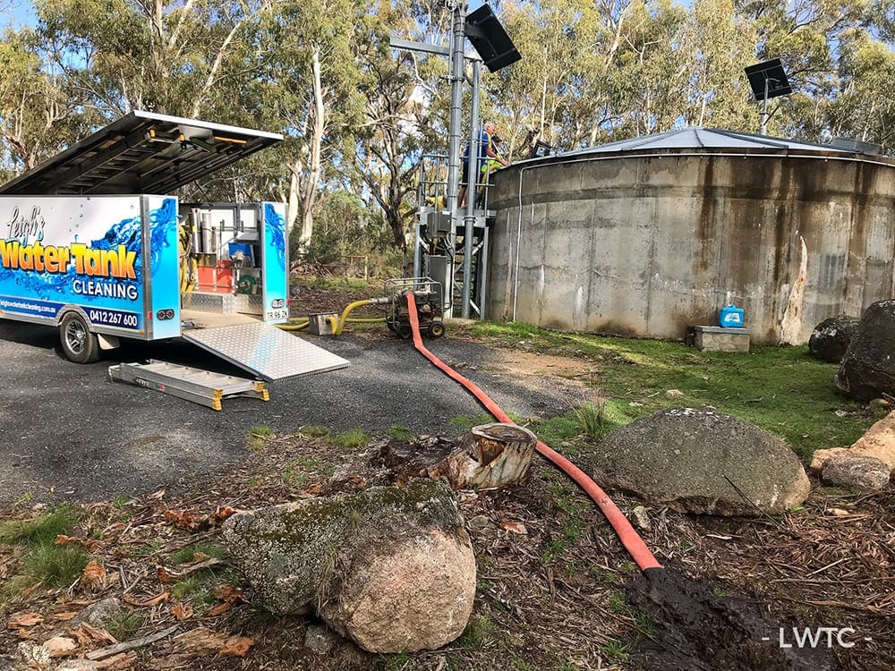
[[[286,334],[286,207],[164,195],[282,140],[132,112],[0,187],[0,318],[65,356],[183,337],[263,379],[348,361]]]

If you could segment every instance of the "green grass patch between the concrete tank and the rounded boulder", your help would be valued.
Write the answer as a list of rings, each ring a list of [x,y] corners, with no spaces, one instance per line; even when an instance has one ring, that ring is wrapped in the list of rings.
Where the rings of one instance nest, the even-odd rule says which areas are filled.
[[[468,328],[485,342],[524,341],[535,352],[593,361],[598,374],[592,384],[609,397],[602,413],[607,431],[664,408],[711,406],[782,437],[807,462],[815,449],[852,444],[885,414],[840,395],[833,384],[835,364],[815,360],[806,345],[699,352],[680,343],[556,333],[524,324],[481,322]],[[667,395],[672,389],[682,395]],[[836,410],[848,414],[838,417]],[[571,412],[533,430],[550,443],[574,438],[582,424]]]

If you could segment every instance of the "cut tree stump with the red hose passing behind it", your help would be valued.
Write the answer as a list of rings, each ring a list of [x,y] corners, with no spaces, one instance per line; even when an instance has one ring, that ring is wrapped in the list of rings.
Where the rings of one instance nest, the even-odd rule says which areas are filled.
[[[455,489],[494,489],[523,480],[537,437],[516,424],[482,424],[466,434],[456,452],[431,467]]]

